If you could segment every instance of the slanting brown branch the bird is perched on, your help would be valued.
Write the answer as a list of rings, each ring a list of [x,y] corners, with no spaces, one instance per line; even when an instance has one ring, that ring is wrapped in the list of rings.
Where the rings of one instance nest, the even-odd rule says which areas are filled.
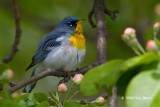
[[[84,67],[80,70],[76,70],[76,71],[71,71],[68,73],[67,77],[72,77],[74,76],[75,74],[85,74],[88,70],[90,70],[91,68],[94,68],[96,66],[98,66],[99,64],[96,62],[96,63],[93,63],[87,67]],[[7,91],[9,93],[13,93],[15,92],[16,90],[32,83],[32,82],[35,82],[35,81],[38,81],[40,80],[41,78],[44,78],[46,76],[56,76],[56,77],[65,77],[65,73],[64,71],[60,71],[60,70],[55,70],[55,69],[46,69],[45,71],[33,76],[33,77],[30,77],[29,79],[27,80],[24,80],[24,81],[21,81],[19,83],[17,83],[16,85],[14,85],[13,87],[11,87],[10,89],[8,89]],[[66,78],[66,77],[65,77]],[[67,82],[68,80],[63,80],[63,82]]]

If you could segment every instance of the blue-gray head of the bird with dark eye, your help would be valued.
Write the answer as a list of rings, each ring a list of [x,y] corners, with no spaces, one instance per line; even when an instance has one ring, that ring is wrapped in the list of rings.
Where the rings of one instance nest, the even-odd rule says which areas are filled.
[[[80,21],[78,18],[69,16],[64,18],[54,29],[54,31],[58,32],[69,32],[69,33],[74,33],[77,22]]]

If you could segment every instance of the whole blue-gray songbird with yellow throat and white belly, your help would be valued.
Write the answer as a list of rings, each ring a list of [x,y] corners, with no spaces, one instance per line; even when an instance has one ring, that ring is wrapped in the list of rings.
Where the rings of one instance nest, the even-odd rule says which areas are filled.
[[[38,50],[32,58],[28,69],[36,65],[32,76],[53,68],[63,71],[75,69],[85,55],[85,38],[82,34],[81,23],[73,16],[64,18],[54,29],[40,41]],[[29,93],[36,83],[27,85],[23,92]]]

